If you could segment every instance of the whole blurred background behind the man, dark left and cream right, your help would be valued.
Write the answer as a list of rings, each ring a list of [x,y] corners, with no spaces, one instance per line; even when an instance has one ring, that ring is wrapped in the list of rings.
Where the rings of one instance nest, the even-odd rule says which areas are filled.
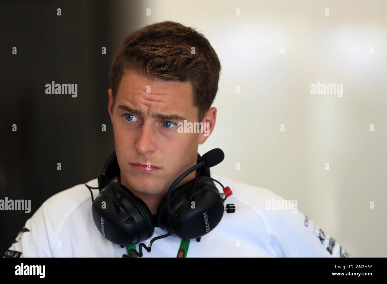
[[[199,145],[225,153],[211,172],[297,199],[354,257],[387,256],[386,11],[382,0],[2,2],[0,199],[31,199],[31,213],[0,211],[0,253],[48,197],[96,178],[114,150],[113,54],[172,20],[221,61],[216,126]],[[46,95],[52,81],[78,96]],[[342,97],[311,94],[317,82],[342,84]]]

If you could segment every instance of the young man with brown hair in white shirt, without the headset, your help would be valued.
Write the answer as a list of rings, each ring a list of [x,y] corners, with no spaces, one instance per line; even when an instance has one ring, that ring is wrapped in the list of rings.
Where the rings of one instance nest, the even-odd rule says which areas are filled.
[[[198,162],[198,145],[214,129],[217,109],[211,105],[220,69],[214,49],[202,34],[169,21],[133,32],[113,58],[108,111],[119,173],[111,181],[124,185],[144,201],[153,219],[170,185]],[[179,131],[180,122],[203,122],[204,127],[199,133],[188,133]],[[195,177],[196,172],[190,173],[175,189]],[[349,256],[294,204],[277,208],[274,203],[283,199],[267,189],[221,175],[211,177],[233,191],[227,203],[235,204],[235,213],[224,214],[200,241],[191,240],[184,257]],[[92,193],[98,196],[97,179],[87,184],[96,187]],[[216,187],[222,192],[219,184]],[[268,207],[272,201],[272,207]],[[127,254],[126,247],[107,240],[100,229],[93,220],[89,190],[85,184],[75,185],[39,207],[5,256]],[[164,234],[156,224],[149,240]],[[181,239],[168,236],[156,240],[151,252],[142,250],[143,257],[176,257],[181,245]],[[135,248],[139,250],[139,244]]]

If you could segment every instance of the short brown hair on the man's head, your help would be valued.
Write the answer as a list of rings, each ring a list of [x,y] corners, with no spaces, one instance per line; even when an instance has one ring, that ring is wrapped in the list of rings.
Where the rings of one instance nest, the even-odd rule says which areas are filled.
[[[195,54],[191,48],[195,48]],[[110,83],[113,103],[128,71],[150,80],[190,82],[198,120],[202,121],[217,93],[221,65],[203,34],[180,23],[165,21],[132,32],[113,56]]]

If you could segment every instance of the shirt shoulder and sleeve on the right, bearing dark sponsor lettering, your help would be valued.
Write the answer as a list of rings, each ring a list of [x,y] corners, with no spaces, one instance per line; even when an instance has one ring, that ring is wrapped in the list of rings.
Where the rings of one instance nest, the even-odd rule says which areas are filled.
[[[306,214],[297,200],[286,200],[271,190],[211,174],[229,186],[235,198],[259,215],[269,235],[269,246],[279,257],[350,257],[344,248],[327,235]],[[215,182],[217,188],[222,188]],[[231,199],[232,200],[232,199]],[[231,201],[229,201],[231,202]],[[238,210],[236,208],[235,210]]]

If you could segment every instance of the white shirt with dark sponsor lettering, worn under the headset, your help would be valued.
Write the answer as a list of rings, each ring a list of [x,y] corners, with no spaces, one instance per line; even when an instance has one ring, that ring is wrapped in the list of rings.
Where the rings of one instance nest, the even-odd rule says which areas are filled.
[[[270,202],[283,200],[274,192],[217,174],[211,177],[230,187],[233,194],[227,197],[224,207],[235,204],[235,213],[224,211],[220,223],[199,242],[190,240],[187,257],[351,256],[333,238],[324,235],[298,207],[268,210]],[[221,186],[214,183],[223,193]],[[91,180],[87,185],[98,187],[98,181]],[[92,192],[95,198],[99,190],[92,189]],[[127,254],[125,247],[110,242],[99,232],[91,207],[91,194],[85,184],[58,192],[26,221],[5,256],[122,257]],[[155,227],[149,241],[164,234],[161,228]],[[142,249],[142,257],[176,257],[180,242],[175,236],[156,240],[150,253]],[[136,250],[139,251],[139,244]]]

